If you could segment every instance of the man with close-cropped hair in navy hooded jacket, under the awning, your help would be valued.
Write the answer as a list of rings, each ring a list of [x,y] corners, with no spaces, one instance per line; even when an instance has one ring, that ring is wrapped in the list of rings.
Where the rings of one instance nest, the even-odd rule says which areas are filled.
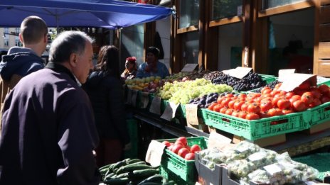
[[[21,23],[19,39],[23,43],[23,47],[11,47],[8,54],[4,55],[0,62],[1,109],[6,95],[21,78],[43,69],[44,64],[41,55],[46,50],[47,35],[48,28],[45,21],[37,16],[29,16]]]

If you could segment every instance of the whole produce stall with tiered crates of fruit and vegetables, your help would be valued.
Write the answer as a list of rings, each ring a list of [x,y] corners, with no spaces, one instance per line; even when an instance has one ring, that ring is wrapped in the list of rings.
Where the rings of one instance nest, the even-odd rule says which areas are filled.
[[[203,77],[198,77],[198,75]],[[213,83],[209,84],[210,82]],[[284,184],[284,182],[306,184],[306,181],[314,181],[314,183],[326,181],[324,177],[327,173],[318,172],[315,165],[309,168],[306,164],[304,166],[296,163],[291,157],[306,155],[320,148],[328,152],[326,147],[330,145],[328,83],[329,79],[310,74],[289,74],[289,76],[277,78],[250,71],[240,76],[237,71],[226,72],[226,74],[223,72],[204,72],[203,74],[181,72],[156,82],[155,79],[127,81],[126,100],[139,125],[149,125],[147,128],[149,135],[154,131],[158,132],[148,140],[142,141],[144,146],[148,145],[148,148],[142,147],[144,155],[146,153],[147,156],[150,155],[150,145],[154,140],[169,141],[173,143],[171,145],[175,145],[176,140],[182,136],[187,138],[188,148],[196,144],[201,147],[202,152],[195,153],[194,161],[184,161],[185,154],[177,149],[169,148],[171,146],[165,147],[160,159],[159,173],[175,181],[176,184],[195,184],[196,181],[201,184],[260,184],[260,179],[265,180],[262,181],[263,184]],[[156,88],[158,90],[155,91]],[[288,92],[291,93],[287,94]],[[307,92],[314,94],[307,94]],[[276,94],[282,98],[274,100]],[[297,103],[292,103],[293,100],[290,101],[295,95],[299,96],[299,99],[295,101],[304,102],[304,106],[300,104],[297,106]],[[268,108],[265,106],[267,103],[261,103],[262,99],[266,98],[267,103],[272,102],[272,106]],[[243,100],[245,103],[250,102],[248,105],[250,110],[238,111],[238,107],[242,108],[244,104],[240,102]],[[259,103],[255,105],[256,102]],[[220,111],[221,108],[225,110]],[[230,108],[233,110],[228,111]],[[273,114],[270,115],[270,112]],[[150,130],[151,128],[154,130]],[[214,134],[226,139],[211,139],[214,137],[211,135]],[[210,140],[213,143],[211,147]],[[250,151],[249,155],[240,158],[243,160],[240,162],[248,162],[246,167],[252,165],[249,163],[251,161],[257,162],[259,167],[251,167],[251,172],[245,169],[235,169],[239,171],[233,172],[230,167],[245,167],[245,163],[235,163],[238,160],[235,156],[233,164],[225,164],[223,160],[220,160],[218,167],[208,164],[206,159],[203,159],[205,157],[203,155],[207,153],[206,151],[213,150],[214,143],[225,145],[223,143],[225,140],[228,140],[226,142],[228,146],[249,150],[252,146],[260,147],[262,152],[255,157],[257,161],[248,159],[249,155],[257,151]],[[235,151],[237,150],[236,148]],[[234,150],[220,147],[219,151],[226,153]],[[271,152],[272,155],[267,152]],[[275,161],[276,156],[283,155],[286,155],[286,162],[299,164],[299,167],[283,168],[283,166],[287,167],[287,164],[279,164],[281,162]],[[220,157],[219,154],[215,156]],[[274,157],[270,160],[272,162],[265,162],[260,156]],[[146,159],[150,162],[148,157]],[[259,162],[265,162],[265,164]],[[267,167],[268,165],[270,167]],[[307,168],[303,169],[302,166]],[[276,173],[268,172],[269,168],[279,170]],[[304,171],[305,169],[307,171]],[[257,171],[252,173],[255,170]],[[241,174],[242,172],[244,174]],[[313,172],[314,177],[307,177],[305,172],[307,174]],[[299,178],[294,179],[297,176]]]

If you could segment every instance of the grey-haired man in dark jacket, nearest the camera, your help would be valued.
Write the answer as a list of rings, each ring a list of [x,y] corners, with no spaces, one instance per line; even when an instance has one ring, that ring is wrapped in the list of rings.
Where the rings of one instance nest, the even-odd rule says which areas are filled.
[[[99,141],[92,107],[78,82],[92,69],[92,39],[58,35],[45,69],[21,79],[4,102],[0,184],[98,184]]]

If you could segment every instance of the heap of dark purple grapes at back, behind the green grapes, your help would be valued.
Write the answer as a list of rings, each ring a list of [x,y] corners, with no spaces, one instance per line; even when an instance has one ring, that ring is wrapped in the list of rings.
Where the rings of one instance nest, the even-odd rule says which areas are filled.
[[[243,79],[231,77],[228,74],[221,73],[217,78],[212,80],[213,84],[228,84],[233,86],[235,91],[249,91],[265,86],[262,77],[255,73],[249,72]]]

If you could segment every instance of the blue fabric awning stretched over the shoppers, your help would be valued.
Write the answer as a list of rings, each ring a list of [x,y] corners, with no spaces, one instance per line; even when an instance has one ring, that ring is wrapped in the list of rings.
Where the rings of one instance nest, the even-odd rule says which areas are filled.
[[[39,16],[48,27],[124,28],[170,16],[172,9],[117,0],[1,0],[0,26],[19,27]]]

